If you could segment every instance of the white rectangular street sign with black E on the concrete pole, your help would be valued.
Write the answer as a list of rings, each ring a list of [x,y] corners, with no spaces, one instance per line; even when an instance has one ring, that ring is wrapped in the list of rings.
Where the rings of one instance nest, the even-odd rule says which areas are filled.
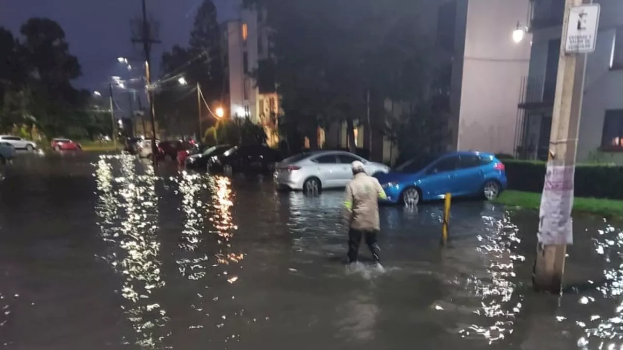
[[[600,9],[599,4],[571,7],[564,52],[587,54],[595,50]]]

